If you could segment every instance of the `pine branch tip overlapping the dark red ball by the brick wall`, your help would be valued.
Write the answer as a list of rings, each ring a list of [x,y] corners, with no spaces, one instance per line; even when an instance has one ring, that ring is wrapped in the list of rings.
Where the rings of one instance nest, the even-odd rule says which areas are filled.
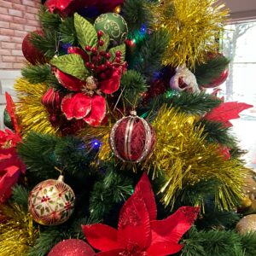
[[[40,52],[42,52],[47,58],[51,59],[58,52],[59,37],[60,36],[57,32],[45,30],[43,36],[32,32],[30,40]]]

